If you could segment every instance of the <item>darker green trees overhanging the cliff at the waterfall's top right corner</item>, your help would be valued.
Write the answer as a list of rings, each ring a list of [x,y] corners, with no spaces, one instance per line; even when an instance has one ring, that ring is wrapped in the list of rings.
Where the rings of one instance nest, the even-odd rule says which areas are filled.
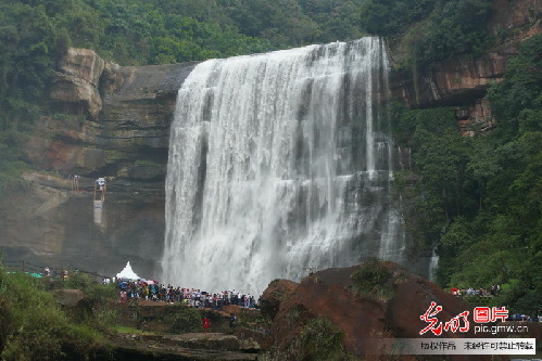
[[[488,18],[493,0],[367,0],[362,28],[401,39],[402,66],[423,65],[454,54],[480,55],[491,43]]]

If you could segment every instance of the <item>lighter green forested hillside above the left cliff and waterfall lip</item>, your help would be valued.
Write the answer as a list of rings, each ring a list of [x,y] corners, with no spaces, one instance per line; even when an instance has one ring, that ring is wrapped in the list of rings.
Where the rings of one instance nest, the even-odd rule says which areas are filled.
[[[362,34],[362,0],[2,0],[0,193],[21,186],[20,145],[47,112],[46,83],[68,47],[121,65],[202,61]]]

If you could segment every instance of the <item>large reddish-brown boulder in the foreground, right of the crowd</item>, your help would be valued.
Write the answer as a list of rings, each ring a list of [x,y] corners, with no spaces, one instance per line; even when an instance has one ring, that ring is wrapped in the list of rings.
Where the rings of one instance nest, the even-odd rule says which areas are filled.
[[[352,274],[367,267],[378,267],[379,272],[387,274],[387,280],[377,280],[375,288],[363,294],[356,291],[358,285]],[[386,292],[379,294],[379,289]],[[472,307],[459,298],[393,262],[367,262],[316,272],[301,280],[297,291],[280,302],[272,330],[275,357],[279,356],[282,360],[303,358],[304,354],[300,353],[303,336],[311,332],[322,332],[324,337],[337,330],[337,334],[342,335],[344,350],[364,360],[381,353],[382,347],[389,347],[389,339],[434,339],[430,331],[419,334],[428,325],[420,315],[427,312],[432,301],[442,306],[442,311],[437,315],[439,321],[448,322],[463,311],[472,314]],[[315,330],[315,325],[326,324],[315,320],[325,320],[332,327]],[[472,330],[467,333],[443,331],[441,337],[474,337],[474,334]],[[455,358],[449,356],[450,360]],[[414,360],[415,357],[404,356],[401,359]],[[484,357],[462,356],[457,359],[483,360]]]

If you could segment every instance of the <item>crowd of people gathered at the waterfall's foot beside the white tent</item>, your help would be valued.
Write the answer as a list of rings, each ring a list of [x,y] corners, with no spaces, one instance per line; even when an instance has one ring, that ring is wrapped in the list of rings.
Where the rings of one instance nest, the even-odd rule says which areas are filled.
[[[181,288],[160,284],[154,281],[117,280],[121,289],[121,302],[129,299],[148,299],[168,304],[182,302],[194,308],[213,308],[220,310],[224,306],[237,305],[244,308],[259,308],[260,299],[250,294],[241,294],[236,289],[210,293],[197,288]]]

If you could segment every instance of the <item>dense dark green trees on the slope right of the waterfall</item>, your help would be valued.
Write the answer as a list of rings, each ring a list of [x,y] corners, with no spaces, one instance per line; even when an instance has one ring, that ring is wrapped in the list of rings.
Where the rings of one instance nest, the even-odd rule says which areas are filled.
[[[542,309],[542,36],[524,42],[488,93],[497,124],[461,137],[451,108],[398,106],[395,133],[414,171],[398,177],[418,246],[437,245],[442,286],[503,292],[493,302]],[[404,203],[404,205],[406,204]]]

